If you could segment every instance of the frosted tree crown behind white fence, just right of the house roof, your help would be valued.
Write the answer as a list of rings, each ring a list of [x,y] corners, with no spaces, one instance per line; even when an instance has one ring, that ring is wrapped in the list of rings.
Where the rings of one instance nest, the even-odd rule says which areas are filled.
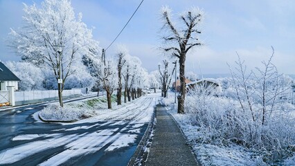
[[[19,77],[19,90],[32,91],[43,89],[42,70],[28,62],[6,62],[6,66]]]

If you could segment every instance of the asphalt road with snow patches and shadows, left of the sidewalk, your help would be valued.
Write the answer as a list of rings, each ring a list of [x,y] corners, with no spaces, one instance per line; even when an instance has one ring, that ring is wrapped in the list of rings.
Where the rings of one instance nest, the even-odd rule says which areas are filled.
[[[0,165],[127,165],[148,125],[136,120],[152,104],[154,98],[141,100],[128,120],[73,124],[35,120],[46,104],[0,111]]]

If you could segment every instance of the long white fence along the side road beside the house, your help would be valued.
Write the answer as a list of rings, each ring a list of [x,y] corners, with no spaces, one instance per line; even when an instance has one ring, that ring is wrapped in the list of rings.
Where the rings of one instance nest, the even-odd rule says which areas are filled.
[[[62,91],[62,98],[74,98],[82,95],[81,89],[70,89]],[[58,100],[58,91],[16,91],[15,105],[33,104],[37,102],[48,102]]]

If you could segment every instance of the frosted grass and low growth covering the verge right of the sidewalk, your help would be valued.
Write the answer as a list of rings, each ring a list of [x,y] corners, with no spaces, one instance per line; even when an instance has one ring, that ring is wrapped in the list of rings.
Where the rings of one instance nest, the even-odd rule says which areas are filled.
[[[164,99],[166,105],[174,102],[171,97]],[[289,113],[276,112],[271,118],[274,122],[260,128],[252,124],[251,129],[258,130],[250,133],[247,127],[251,123],[244,113],[239,113],[238,106],[237,101],[227,98],[202,96],[196,100],[196,96],[188,96],[185,114],[178,114],[177,109],[170,113],[202,165],[295,165],[295,123]],[[280,107],[285,110],[294,106]],[[253,140],[251,134],[262,134],[269,140]],[[266,149],[269,145],[277,147]]]

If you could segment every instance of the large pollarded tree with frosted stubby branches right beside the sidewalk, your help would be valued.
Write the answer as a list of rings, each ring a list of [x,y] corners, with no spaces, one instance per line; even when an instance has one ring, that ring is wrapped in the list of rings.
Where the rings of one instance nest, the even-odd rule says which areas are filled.
[[[184,100],[186,96],[186,77],[185,77],[185,64],[186,53],[195,47],[201,45],[199,42],[199,33],[197,26],[202,21],[203,13],[198,8],[191,8],[188,11],[181,13],[179,16],[181,24],[184,26],[177,27],[171,20],[171,9],[163,7],[161,9],[161,18],[163,20],[163,41],[166,46],[161,48],[172,57],[179,59],[179,77],[180,77],[180,95],[178,98],[178,113],[184,113]],[[179,24],[180,25],[180,24]]]

